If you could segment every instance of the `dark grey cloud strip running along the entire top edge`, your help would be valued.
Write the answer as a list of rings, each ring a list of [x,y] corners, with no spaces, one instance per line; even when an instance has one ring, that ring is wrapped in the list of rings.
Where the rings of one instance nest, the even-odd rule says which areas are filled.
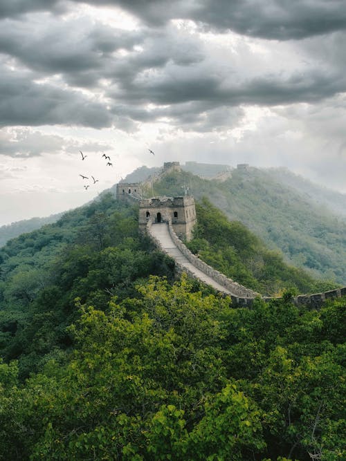
[[[170,19],[192,19],[204,28],[234,30],[266,39],[302,39],[346,29],[344,0],[72,0],[92,6],[120,6],[151,27]],[[0,17],[68,8],[65,1],[3,0]]]

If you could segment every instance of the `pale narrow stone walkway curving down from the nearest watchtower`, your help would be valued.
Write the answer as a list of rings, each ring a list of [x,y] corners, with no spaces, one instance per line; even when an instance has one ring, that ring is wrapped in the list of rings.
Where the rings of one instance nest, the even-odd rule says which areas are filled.
[[[168,225],[166,223],[155,223],[152,224],[152,227],[149,230],[150,234],[156,238],[160,243],[163,251],[171,256],[176,263],[182,265],[188,272],[191,272],[197,279],[201,280],[203,283],[210,285],[212,288],[219,292],[224,292],[226,294],[234,294],[224,288],[222,285],[217,283],[212,277],[208,276],[201,270],[194,267],[192,263],[183,255],[179,248],[174,245],[172,237],[170,236],[170,231],[168,230]]]

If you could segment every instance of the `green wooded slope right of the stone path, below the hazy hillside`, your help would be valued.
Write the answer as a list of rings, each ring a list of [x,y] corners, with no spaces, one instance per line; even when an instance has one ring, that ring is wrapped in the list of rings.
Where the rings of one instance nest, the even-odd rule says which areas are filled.
[[[262,295],[279,295],[284,290],[316,293],[336,288],[335,283],[317,282],[304,270],[284,263],[280,252],[268,250],[239,221],[228,221],[206,198],[196,204],[196,209],[198,224],[188,247],[246,288]]]

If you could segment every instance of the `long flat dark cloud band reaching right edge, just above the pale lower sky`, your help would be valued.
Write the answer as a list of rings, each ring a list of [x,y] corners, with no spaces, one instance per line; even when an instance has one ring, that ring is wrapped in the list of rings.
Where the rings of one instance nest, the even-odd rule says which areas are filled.
[[[162,73],[122,82],[110,97],[127,104],[176,105],[205,102],[208,109],[220,105],[260,104],[274,106],[293,102],[316,102],[345,91],[344,75],[324,75],[318,70],[293,73],[280,78],[273,75],[248,77],[235,84],[219,75],[203,75],[203,68],[181,68],[175,75]],[[154,111],[153,111],[154,113]]]

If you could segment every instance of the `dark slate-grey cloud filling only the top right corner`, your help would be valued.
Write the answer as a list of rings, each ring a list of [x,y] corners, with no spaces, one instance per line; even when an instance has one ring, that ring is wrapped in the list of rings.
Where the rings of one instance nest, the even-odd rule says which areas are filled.
[[[266,39],[302,39],[346,29],[344,0],[203,0],[192,12],[216,30]]]

